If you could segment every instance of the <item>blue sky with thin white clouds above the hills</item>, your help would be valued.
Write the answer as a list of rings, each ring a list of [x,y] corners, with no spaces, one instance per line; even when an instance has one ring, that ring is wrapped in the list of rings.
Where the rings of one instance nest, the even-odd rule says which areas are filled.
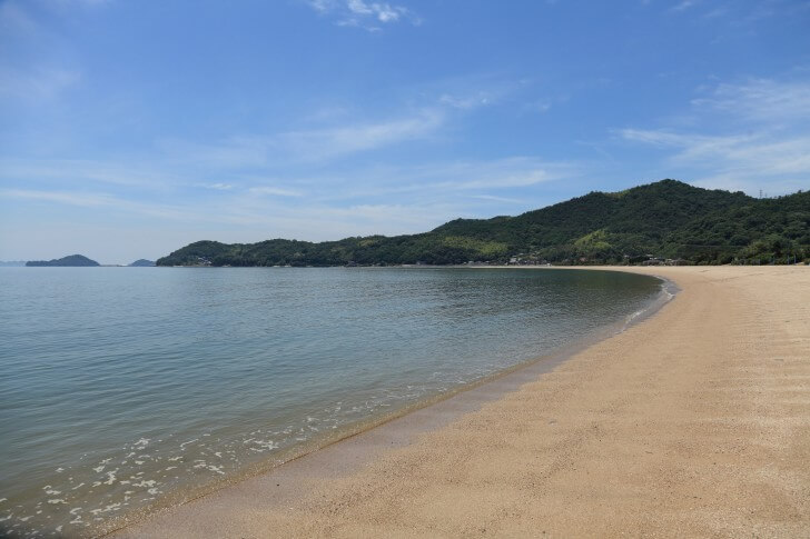
[[[0,260],[810,189],[810,1],[0,0]]]

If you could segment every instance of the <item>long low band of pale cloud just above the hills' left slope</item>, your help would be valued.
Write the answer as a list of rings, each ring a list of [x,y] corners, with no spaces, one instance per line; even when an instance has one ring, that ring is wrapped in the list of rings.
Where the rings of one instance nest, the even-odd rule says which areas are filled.
[[[567,172],[566,172],[567,171]],[[43,186],[38,189],[0,189],[0,200],[50,203],[81,214],[137,214],[189,227],[246,227],[273,236],[300,239],[338,239],[371,233],[406,233],[429,230],[456,217],[490,216],[542,206],[539,183],[571,177],[571,168],[534,158],[491,161],[434,162],[393,168],[353,169],[342,177],[287,178],[286,181],[245,177],[233,183],[188,183],[218,191],[216,197],[186,197],[176,203],[158,202],[149,190],[130,187],[116,193],[77,191]],[[296,184],[316,184],[310,192]],[[100,187],[100,186],[99,186]],[[89,189],[89,186],[86,186]],[[522,198],[516,193],[524,193]],[[177,197],[174,197],[178,200]],[[512,209],[510,211],[513,211]],[[77,213],[78,216],[79,213]],[[247,233],[247,232],[245,232]]]

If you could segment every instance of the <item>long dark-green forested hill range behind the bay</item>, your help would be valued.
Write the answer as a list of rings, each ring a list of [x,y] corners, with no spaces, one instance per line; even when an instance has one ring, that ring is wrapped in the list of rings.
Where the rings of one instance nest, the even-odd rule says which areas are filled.
[[[340,266],[505,262],[625,263],[649,256],[695,263],[810,257],[810,193],[754,199],[662,180],[591,192],[516,217],[456,219],[425,233],[313,243],[198,241],[158,266]]]

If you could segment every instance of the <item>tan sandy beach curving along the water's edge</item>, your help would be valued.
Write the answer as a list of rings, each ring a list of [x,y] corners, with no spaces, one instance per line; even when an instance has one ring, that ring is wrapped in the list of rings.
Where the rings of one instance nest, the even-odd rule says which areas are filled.
[[[810,268],[632,271],[682,291],[497,399],[474,390],[116,537],[810,537]]]

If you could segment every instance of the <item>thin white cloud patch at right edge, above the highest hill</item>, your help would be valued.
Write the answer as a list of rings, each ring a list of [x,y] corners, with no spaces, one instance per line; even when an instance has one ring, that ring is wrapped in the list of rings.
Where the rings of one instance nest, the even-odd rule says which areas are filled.
[[[702,122],[691,132],[622,129],[620,136],[669,151],[664,163],[695,183],[750,193],[810,182],[810,81],[723,83],[691,102]],[[720,131],[720,132],[718,132]]]

